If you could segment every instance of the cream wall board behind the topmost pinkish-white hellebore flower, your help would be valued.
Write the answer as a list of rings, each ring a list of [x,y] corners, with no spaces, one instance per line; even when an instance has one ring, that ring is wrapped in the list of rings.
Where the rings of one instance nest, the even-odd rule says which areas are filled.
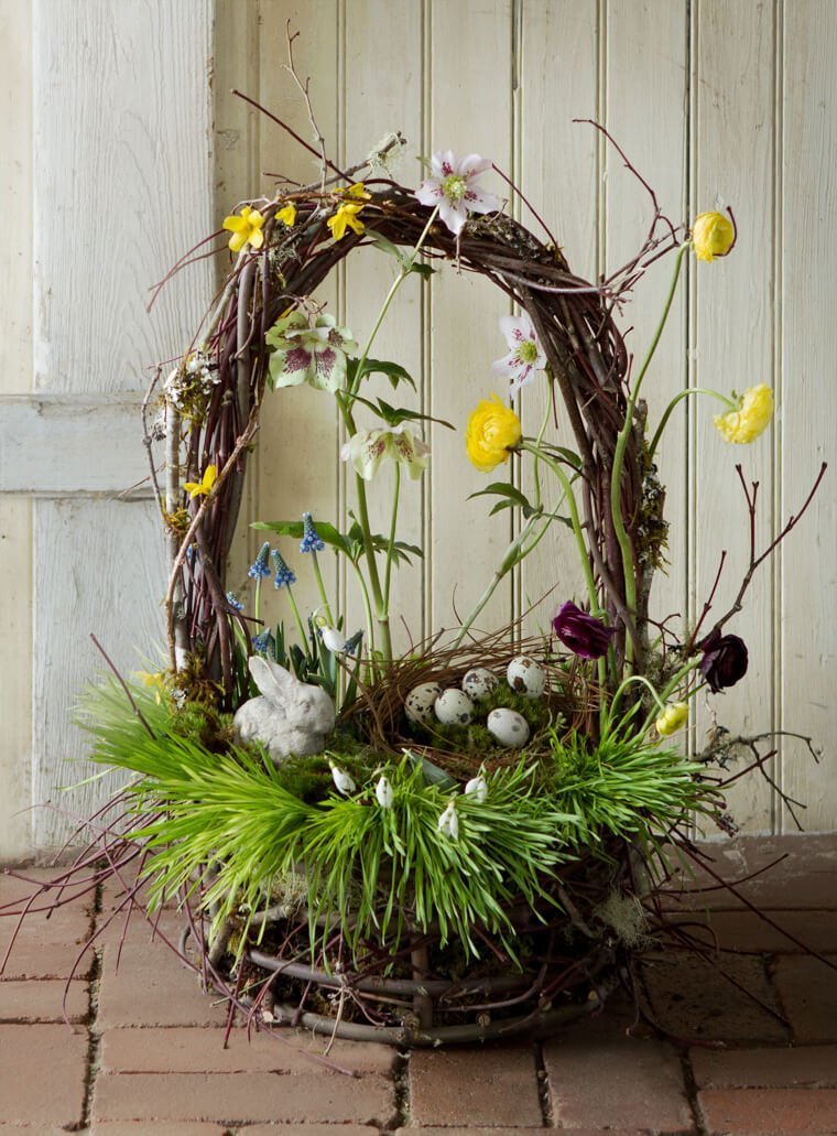
[[[426,130],[429,152],[458,157],[480,153],[509,170],[512,165],[511,18],[509,0],[471,5],[428,5],[430,85]],[[505,195],[491,173],[486,189]],[[497,319],[505,296],[482,278],[445,265],[433,278],[429,368],[430,412],[451,421],[457,434],[433,428],[434,477],[430,490],[432,560],[426,573],[429,626],[451,628],[464,618],[496,570],[510,540],[504,519],[488,517],[486,499],[468,501],[491,481],[504,481],[509,467],[477,473],[464,454],[468,416],[496,390],[491,364],[497,352]],[[502,341],[501,341],[502,345]],[[503,627],[512,615],[511,586],[501,585],[476,627]]]

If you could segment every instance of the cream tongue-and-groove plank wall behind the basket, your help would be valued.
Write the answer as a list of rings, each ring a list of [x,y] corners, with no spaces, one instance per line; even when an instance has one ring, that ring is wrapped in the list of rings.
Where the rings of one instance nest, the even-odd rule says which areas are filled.
[[[689,399],[660,451],[671,568],[655,586],[655,613],[673,615],[675,627],[694,620],[722,551],[715,610],[725,610],[747,559],[736,462],[747,482],[760,484],[761,544],[798,509],[820,460],[834,459],[828,226],[837,77],[829,59],[837,50],[837,8],[829,0],[219,0],[218,216],[268,191],[269,173],[315,176],[308,156],[227,93],[233,85],[248,91],[310,136],[299,92],[283,70],[288,19],[301,32],[300,74],[311,77],[319,125],[341,160],[357,160],[394,128],[410,140],[400,172],[407,184],[421,177],[416,156],[449,148],[484,153],[525,186],[580,274],[594,276],[626,258],[647,225],[648,200],[613,149],[576,118],[595,118],[613,134],[675,223],[733,206],[740,229],[735,254],[689,265],[647,386],[652,415],[687,385],[776,387],[776,425],[755,445],[726,445],[711,421],[719,406]],[[492,187],[503,192],[499,181]],[[536,227],[518,201],[510,209]],[[648,273],[625,310],[637,357],[656,325],[670,270],[666,261]],[[380,257],[365,254],[328,282],[320,299],[360,337],[388,282]],[[422,538],[427,550],[422,571],[403,574],[400,584],[396,618],[403,616],[412,640],[469,609],[511,535],[507,521],[488,519],[484,501],[464,500],[485,478],[462,456],[467,415],[496,386],[489,366],[503,353],[496,318],[507,310],[502,295],[449,268],[429,285],[403,291],[376,344],[376,352],[396,352],[420,376],[420,404],[458,426],[457,435],[427,431],[433,476],[421,488],[409,486],[408,507],[417,508],[404,536]],[[542,410],[543,394],[527,391],[522,417],[530,433]],[[252,517],[310,508],[344,518],[350,493],[336,458],[340,441],[326,400],[282,392],[263,431]],[[526,469],[516,476],[526,484]],[[244,534],[242,542],[241,575],[258,538]],[[502,626],[538,600],[529,626],[543,626],[559,602],[578,593],[566,538],[555,534],[542,552],[500,588],[483,626]],[[728,628],[750,646],[746,680],[702,702],[692,733],[700,744],[717,713],[736,730],[781,728],[819,738],[819,766],[789,741],[773,765],[777,784],[806,802],[810,830],[837,827],[835,552],[835,492],[827,482]],[[345,579],[334,585],[341,608],[351,611]],[[777,793],[759,778],[730,793],[730,809],[748,832],[793,829]]]

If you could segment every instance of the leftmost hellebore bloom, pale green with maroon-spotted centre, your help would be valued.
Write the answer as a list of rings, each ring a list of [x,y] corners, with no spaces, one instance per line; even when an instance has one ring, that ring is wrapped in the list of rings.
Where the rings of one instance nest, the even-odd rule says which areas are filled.
[[[311,325],[301,311],[278,319],[265,336],[273,349],[270,383],[334,393],[346,374],[346,354],[358,350],[348,327],[338,327],[334,316],[321,312]]]

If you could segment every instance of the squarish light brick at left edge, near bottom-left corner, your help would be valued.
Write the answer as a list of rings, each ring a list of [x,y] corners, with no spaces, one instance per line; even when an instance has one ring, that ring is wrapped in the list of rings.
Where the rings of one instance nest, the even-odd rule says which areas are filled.
[[[67,1026],[0,1026],[0,1117],[28,1125],[82,1119],[87,1031]]]

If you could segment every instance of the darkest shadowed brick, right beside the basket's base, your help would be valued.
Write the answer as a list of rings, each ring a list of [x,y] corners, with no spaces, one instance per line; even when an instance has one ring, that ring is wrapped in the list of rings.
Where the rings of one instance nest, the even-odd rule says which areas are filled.
[[[743,989],[728,982],[719,967]],[[643,962],[643,979],[654,1020],[675,1037],[790,1041],[789,1028],[770,1012],[772,1009],[780,1013],[780,1006],[760,958],[723,954],[715,964],[692,952],[670,951]]]

